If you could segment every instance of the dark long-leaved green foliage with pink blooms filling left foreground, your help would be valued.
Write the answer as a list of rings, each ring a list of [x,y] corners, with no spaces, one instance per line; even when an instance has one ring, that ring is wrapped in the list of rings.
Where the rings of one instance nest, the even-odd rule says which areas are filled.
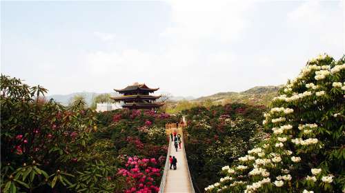
[[[81,100],[70,108],[45,102],[40,100],[45,88],[4,75],[0,90],[1,192],[113,192],[121,188],[120,178],[105,176],[116,174],[115,165],[104,165],[99,155],[92,154],[96,119]],[[79,174],[90,170],[98,178],[82,181]]]

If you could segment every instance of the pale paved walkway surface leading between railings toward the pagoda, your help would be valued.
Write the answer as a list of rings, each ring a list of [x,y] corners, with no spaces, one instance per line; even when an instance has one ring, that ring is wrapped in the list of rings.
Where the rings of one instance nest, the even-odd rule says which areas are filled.
[[[181,130],[179,132],[182,135]],[[177,149],[177,152],[174,143],[170,145],[170,156],[175,156],[177,159],[177,170],[168,171],[168,175],[166,176],[166,187],[164,188],[164,192],[166,193],[192,192],[188,176],[187,161],[185,159],[184,148],[182,147],[182,145],[184,145],[184,140],[181,139],[181,141],[181,149]]]

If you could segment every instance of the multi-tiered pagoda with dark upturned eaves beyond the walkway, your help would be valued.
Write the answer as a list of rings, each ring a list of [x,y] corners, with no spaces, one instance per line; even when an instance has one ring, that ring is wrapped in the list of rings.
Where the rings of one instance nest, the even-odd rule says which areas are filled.
[[[116,92],[124,94],[122,96],[111,97],[115,102],[123,101],[123,108],[129,109],[156,109],[164,105],[164,103],[155,102],[161,96],[152,96],[150,93],[159,90],[159,88],[148,88],[147,85],[134,83],[126,88],[117,90]]]

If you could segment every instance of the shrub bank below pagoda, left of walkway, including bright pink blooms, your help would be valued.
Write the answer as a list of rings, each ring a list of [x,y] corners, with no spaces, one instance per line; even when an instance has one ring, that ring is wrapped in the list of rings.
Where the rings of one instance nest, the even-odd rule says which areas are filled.
[[[177,117],[152,110],[121,109],[99,112],[97,119],[95,139],[112,142],[112,150],[104,154],[117,158],[117,176],[126,176],[128,182],[123,192],[158,192],[160,168],[168,152],[165,124],[175,123]]]

